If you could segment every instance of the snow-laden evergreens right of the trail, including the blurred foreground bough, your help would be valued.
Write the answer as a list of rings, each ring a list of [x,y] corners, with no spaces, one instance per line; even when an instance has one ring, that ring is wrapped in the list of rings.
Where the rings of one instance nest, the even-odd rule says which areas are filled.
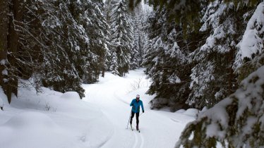
[[[263,147],[263,1],[148,2],[155,6],[150,26],[156,27],[150,28],[147,46],[152,54],[145,56],[153,80],[149,93],[157,94],[152,107],[173,107],[182,100],[189,107],[210,108],[186,126],[176,147]],[[137,3],[131,0],[129,6]],[[177,46],[170,49],[183,56],[166,56],[171,26]],[[175,62],[184,58],[186,63]],[[178,68],[187,79],[179,74],[170,79]],[[188,89],[181,97],[184,85]]]

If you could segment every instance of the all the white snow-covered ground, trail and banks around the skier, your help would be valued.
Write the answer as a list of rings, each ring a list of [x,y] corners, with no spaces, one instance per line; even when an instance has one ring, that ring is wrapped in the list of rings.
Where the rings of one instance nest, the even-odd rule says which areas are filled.
[[[42,94],[21,88],[11,105],[0,88],[0,147],[174,147],[196,110],[175,113],[150,110],[155,96],[145,94],[150,82],[143,69],[124,78],[106,73],[97,84],[83,85],[86,97],[42,88]],[[140,133],[128,129],[132,99],[140,94],[145,113],[140,115]],[[1,104],[0,104],[1,105]],[[136,127],[136,117],[133,128]]]

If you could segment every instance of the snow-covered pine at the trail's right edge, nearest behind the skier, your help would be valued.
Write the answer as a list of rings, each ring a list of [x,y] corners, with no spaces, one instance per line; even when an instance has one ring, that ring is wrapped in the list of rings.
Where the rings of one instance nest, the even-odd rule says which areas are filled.
[[[150,101],[152,108],[171,106],[175,111],[176,106],[182,107],[188,96],[191,69],[186,58],[188,50],[181,51],[176,42],[183,40],[182,30],[176,23],[167,20],[167,14],[164,8],[162,11],[156,10],[150,17],[150,41],[145,51],[144,65],[148,77],[152,79],[148,93],[157,94]],[[181,46],[184,47],[184,44]]]

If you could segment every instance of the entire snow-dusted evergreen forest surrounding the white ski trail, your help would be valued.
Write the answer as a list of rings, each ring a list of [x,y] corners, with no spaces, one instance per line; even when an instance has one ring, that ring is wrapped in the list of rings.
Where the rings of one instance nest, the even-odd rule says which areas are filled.
[[[137,68],[152,109],[201,112],[175,147],[264,147],[264,1],[0,1],[9,103],[23,80],[82,98],[83,83]]]

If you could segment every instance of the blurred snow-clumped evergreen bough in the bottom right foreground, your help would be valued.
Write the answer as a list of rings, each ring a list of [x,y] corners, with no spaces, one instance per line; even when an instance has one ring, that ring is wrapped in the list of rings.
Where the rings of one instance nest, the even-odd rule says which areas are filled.
[[[263,55],[248,64],[256,66],[263,59]],[[247,78],[241,82],[239,90],[212,109],[201,113],[197,121],[189,123],[181,133],[176,147],[215,147],[215,142],[220,142],[222,147],[263,147],[264,67],[258,66],[254,67],[256,71],[250,75],[244,75]],[[248,68],[242,66],[241,70]],[[225,116],[217,116],[219,114]],[[209,127],[212,125],[217,125],[217,131],[208,134],[207,131],[211,131]],[[189,140],[191,133],[196,132],[199,134],[194,134],[193,139]]]

